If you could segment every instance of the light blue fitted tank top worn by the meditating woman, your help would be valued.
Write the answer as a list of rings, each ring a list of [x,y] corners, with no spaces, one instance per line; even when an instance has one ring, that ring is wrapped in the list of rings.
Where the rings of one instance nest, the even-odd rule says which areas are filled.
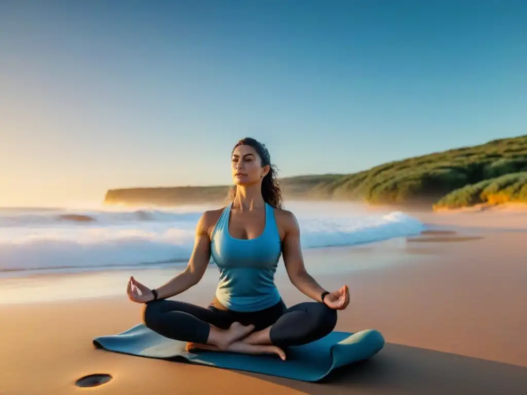
[[[246,240],[229,234],[231,208],[232,203],[223,210],[212,232],[211,255],[220,272],[216,298],[233,311],[266,309],[281,299],[275,285],[281,242],[274,209],[265,204],[264,232]]]

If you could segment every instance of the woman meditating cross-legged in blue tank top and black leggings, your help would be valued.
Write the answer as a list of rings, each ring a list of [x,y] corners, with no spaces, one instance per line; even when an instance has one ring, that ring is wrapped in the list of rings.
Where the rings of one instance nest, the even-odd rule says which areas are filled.
[[[187,268],[158,289],[133,277],[128,297],[146,303],[143,322],[164,337],[188,342],[188,348],[250,354],[276,353],[330,333],[337,310],[349,303],[347,285],[327,292],[307,273],[295,216],[282,209],[276,170],[264,144],[240,140],[231,155],[235,187],[232,202],[206,211],[196,227]],[[292,284],[315,302],[287,308],[274,276],[280,255]],[[208,308],[166,300],[196,285],[210,257],[220,279]]]

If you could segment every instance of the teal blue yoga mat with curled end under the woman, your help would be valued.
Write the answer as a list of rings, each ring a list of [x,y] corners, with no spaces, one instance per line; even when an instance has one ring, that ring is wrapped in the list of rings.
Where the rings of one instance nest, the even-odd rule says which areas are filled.
[[[278,356],[254,356],[233,352],[185,350],[186,342],[165,338],[143,324],[124,332],[97,337],[96,348],[159,359],[182,359],[210,367],[249,371],[302,381],[319,381],[332,370],[373,357],[384,347],[380,332],[331,332],[317,341],[289,347],[287,360]]]

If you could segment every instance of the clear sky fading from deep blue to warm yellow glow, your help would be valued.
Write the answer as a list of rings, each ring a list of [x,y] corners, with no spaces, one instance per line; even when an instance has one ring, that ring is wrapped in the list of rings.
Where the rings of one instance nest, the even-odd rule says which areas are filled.
[[[0,3],[0,206],[351,173],[527,134],[527,2]]]

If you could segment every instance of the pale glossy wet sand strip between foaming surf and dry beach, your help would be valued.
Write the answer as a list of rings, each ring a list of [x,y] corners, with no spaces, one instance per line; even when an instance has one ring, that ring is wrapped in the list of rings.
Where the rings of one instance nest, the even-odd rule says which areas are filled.
[[[418,249],[409,246],[405,238],[398,238],[355,246],[309,249],[303,254],[308,271],[317,277],[326,277],[352,272],[361,275],[366,271],[404,264],[417,252]],[[347,264],[350,258],[354,262]],[[321,262],[324,264],[321,265]],[[3,277],[0,278],[0,306],[118,297],[123,295],[123,287],[130,275],[145,284],[159,286],[183,269],[183,265],[167,265],[162,268],[136,266],[115,270]],[[198,285],[207,284],[210,289],[215,289],[217,270],[216,265],[210,264]],[[277,286],[287,285],[288,281],[283,259],[280,258],[276,272]]]

